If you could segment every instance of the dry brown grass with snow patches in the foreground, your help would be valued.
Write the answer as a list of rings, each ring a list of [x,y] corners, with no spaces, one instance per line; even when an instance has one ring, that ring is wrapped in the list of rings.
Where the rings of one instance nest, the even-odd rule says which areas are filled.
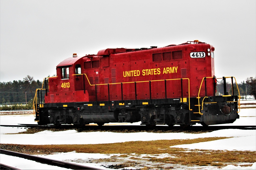
[[[223,163],[238,163],[238,162],[256,162],[256,152],[252,151],[210,151],[210,150],[187,150],[181,148],[170,148],[169,146],[206,142],[212,140],[225,139],[227,137],[210,137],[185,140],[155,140],[155,141],[131,141],[122,143],[108,144],[91,144],[91,145],[12,145],[16,148],[22,148],[23,153],[30,151],[29,154],[45,154],[53,152],[71,152],[79,153],[103,153],[103,154],[121,154],[113,155],[105,161],[115,161],[117,158],[129,158],[130,160],[148,160],[159,163],[171,163],[187,166],[224,166]],[[226,145],[223,143],[223,145]],[[4,148],[3,148],[4,149]],[[11,149],[10,149],[11,150]],[[32,151],[32,152],[31,152]],[[34,152],[33,152],[34,151]],[[40,151],[40,152],[37,152]],[[135,153],[131,155],[131,153]],[[158,154],[168,153],[170,156],[166,158],[154,158],[151,156],[139,157],[141,154],[157,156]]]

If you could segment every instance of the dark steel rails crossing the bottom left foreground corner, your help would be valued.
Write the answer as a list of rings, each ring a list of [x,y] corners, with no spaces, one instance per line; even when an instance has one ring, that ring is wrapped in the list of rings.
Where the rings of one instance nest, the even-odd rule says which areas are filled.
[[[19,152],[7,151],[7,150],[4,150],[4,149],[0,149],[0,152],[1,152],[1,154],[10,155],[10,156],[17,156],[19,158],[24,158],[24,159],[36,161],[36,162],[39,162],[39,163],[58,166],[58,167],[62,167],[62,168],[85,169],[85,170],[87,170],[87,169],[88,170],[102,170],[102,169],[99,169],[99,168],[93,168],[93,167],[89,167],[89,166],[83,166],[83,165],[78,165],[78,164],[73,164],[73,163],[48,159],[48,158],[42,158],[42,157],[29,155],[29,154],[24,154],[24,153],[19,153]],[[17,169],[17,168],[8,166],[8,165],[1,164],[1,168],[2,168],[2,166],[4,167],[4,169],[9,169],[9,168],[10,169]]]

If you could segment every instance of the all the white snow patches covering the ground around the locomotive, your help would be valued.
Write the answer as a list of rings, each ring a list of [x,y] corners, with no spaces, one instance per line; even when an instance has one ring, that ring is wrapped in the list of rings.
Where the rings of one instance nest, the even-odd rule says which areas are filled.
[[[223,125],[256,125],[256,109],[241,109],[240,119],[237,119],[233,124],[223,124]],[[36,124],[34,122],[33,115],[1,115],[0,116],[1,125],[17,125],[17,124]],[[139,125],[140,123],[133,123],[127,125]],[[113,124],[108,124],[113,125]],[[220,125],[220,126],[223,126]],[[201,126],[198,124],[198,126]],[[1,143],[15,143],[15,144],[31,144],[31,145],[46,145],[46,144],[95,144],[95,143],[114,143],[114,142],[125,142],[125,141],[148,141],[148,140],[162,140],[162,139],[194,139],[203,137],[232,137],[229,139],[221,139],[216,141],[193,143],[189,145],[176,145],[171,147],[188,148],[188,149],[207,149],[207,150],[250,150],[256,151],[256,130],[241,130],[241,129],[223,129],[216,130],[214,132],[203,133],[203,134],[186,134],[186,133],[113,133],[113,132],[80,132],[76,130],[66,130],[61,132],[51,132],[45,130],[43,132],[38,132],[35,134],[14,134],[18,132],[25,131],[25,128],[20,127],[0,127],[0,142]],[[67,138],[67,136],[69,136]],[[89,163],[90,160],[111,158],[111,156],[118,154],[88,154],[88,153],[55,153],[52,155],[39,155],[50,159],[56,159],[61,161],[71,162],[75,160],[76,163],[93,166],[100,169],[104,168],[96,163]],[[3,164],[8,164],[12,166],[15,162],[17,165],[22,165],[21,169],[29,169],[24,167],[27,163],[24,161],[12,161],[6,155],[0,155],[0,162]],[[142,156],[142,155],[140,155]],[[152,156],[152,155],[144,155]],[[163,157],[169,157],[170,155],[160,155]],[[122,158],[123,159],[123,158]],[[16,166],[16,164],[14,166]],[[23,165],[25,164],[25,165]],[[29,163],[32,165],[32,163]],[[105,162],[104,165],[111,165],[113,163]],[[38,165],[35,165],[38,167]],[[20,166],[19,166],[20,167]],[[33,167],[33,166],[30,166]],[[129,167],[130,169],[132,167]],[[223,169],[256,169],[256,163],[250,167],[237,167],[233,165],[228,165]],[[31,168],[30,168],[31,169]],[[32,169],[35,169],[33,167]],[[54,169],[54,167],[44,167],[40,166],[40,169]],[[187,167],[184,169],[217,169],[217,167],[207,166],[207,167]]]

